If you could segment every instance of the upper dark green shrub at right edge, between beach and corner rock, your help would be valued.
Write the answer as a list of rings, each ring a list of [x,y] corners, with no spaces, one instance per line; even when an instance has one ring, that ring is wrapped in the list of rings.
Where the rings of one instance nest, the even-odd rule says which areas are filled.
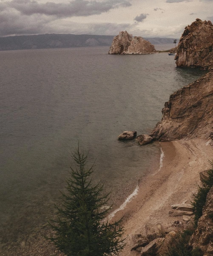
[[[195,214],[194,224],[197,227],[199,218],[202,216],[203,207],[210,188],[213,186],[213,161],[210,161],[211,168],[207,170],[207,178],[203,180],[203,186],[198,186],[198,192],[193,195],[193,212]]]

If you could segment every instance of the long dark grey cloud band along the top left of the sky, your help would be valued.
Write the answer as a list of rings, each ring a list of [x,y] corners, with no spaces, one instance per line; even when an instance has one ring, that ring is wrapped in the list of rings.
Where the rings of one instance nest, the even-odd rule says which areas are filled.
[[[34,0],[12,0],[0,3],[1,8],[15,9],[22,15],[56,15],[57,17],[89,16],[99,15],[118,7],[131,6],[127,0],[107,0],[97,2],[96,0],[73,0],[69,3],[39,3]]]

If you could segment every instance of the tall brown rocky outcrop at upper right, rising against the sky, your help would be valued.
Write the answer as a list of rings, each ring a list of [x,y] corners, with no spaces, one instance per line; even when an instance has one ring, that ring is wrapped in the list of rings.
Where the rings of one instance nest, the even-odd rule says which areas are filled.
[[[180,38],[177,54],[177,67],[213,67],[213,24],[211,21],[196,19]]]

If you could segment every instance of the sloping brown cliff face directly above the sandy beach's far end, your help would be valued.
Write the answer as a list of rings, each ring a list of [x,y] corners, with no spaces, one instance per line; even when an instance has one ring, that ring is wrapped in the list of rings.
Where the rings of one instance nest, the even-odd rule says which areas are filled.
[[[208,138],[213,131],[213,70],[173,93],[162,113],[150,134],[154,140]]]

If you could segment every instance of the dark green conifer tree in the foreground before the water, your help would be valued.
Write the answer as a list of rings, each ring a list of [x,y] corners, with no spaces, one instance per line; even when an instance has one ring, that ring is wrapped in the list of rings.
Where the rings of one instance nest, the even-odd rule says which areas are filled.
[[[76,168],[71,168],[57,219],[49,221],[54,235],[48,239],[67,256],[117,255],[124,247],[121,220],[113,224],[104,221],[109,209],[102,208],[108,195],[102,195],[100,184],[92,185],[93,166],[85,168],[87,156],[83,151],[77,148],[72,157]]]

